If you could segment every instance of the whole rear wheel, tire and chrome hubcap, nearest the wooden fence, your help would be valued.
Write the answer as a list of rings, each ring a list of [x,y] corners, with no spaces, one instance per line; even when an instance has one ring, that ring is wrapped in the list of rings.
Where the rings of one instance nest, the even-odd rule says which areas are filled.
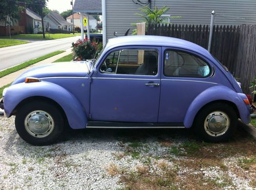
[[[203,140],[220,142],[230,138],[237,124],[237,113],[232,106],[215,103],[204,107],[198,113],[194,127]]]

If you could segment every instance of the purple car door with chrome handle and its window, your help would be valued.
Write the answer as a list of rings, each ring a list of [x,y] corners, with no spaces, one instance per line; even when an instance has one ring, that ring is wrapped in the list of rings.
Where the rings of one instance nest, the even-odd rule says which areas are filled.
[[[92,74],[90,114],[94,121],[157,122],[160,47],[115,48]]]

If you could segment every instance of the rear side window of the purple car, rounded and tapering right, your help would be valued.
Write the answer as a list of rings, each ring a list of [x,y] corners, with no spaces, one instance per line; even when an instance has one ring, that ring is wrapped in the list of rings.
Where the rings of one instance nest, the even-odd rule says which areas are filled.
[[[210,73],[209,65],[197,56],[183,51],[165,50],[164,75],[177,77],[205,77]]]

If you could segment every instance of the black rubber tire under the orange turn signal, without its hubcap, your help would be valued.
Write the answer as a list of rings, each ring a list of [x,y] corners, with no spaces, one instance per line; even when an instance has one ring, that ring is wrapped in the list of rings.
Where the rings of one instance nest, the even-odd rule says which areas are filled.
[[[43,111],[46,112],[53,119],[53,129],[50,133],[48,131],[47,137],[36,137],[37,134],[30,134],[25,127],[26,117],[34,111]],[[15,117],[15,127],[19,136],[26,142],[36,145],[36,146],[45,146],[53,144],[58,140],[64,128],[64,118],[61,111],[52,103],[47,101],[34,101],[26,103],[20,106],[17,110]]]

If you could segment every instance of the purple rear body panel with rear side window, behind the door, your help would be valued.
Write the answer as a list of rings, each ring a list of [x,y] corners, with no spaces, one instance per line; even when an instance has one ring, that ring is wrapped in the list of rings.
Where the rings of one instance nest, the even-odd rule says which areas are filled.
[[[211,66],[196,52],[162,49],[163,67],[158,122],[183,123],[191,102],[204,90],[217,85]]]

